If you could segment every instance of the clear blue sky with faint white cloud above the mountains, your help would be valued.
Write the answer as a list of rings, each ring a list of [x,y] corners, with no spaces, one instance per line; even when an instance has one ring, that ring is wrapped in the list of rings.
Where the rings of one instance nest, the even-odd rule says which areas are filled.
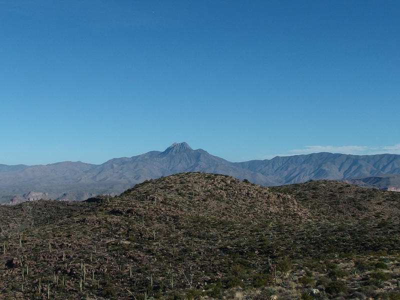
[[[397,0],[0,0],[0,28],[0,163],[400,153]]]

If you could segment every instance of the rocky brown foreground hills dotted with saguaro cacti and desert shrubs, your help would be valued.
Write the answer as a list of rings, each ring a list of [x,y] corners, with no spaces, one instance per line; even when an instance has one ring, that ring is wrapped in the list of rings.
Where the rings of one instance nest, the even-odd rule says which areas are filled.
[[[0,298],[396,299],[399,212],[400,193],[201,172],[0,206]]]

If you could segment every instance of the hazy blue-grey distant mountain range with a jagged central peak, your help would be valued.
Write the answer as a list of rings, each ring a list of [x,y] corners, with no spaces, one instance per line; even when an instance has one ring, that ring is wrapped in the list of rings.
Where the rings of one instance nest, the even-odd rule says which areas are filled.
[[[282,185],[310,179],[336,179],[380,189],[400,190],[400,155],[312,153],[272,159],[230,162],[185,143],[164,151],[113,158],[102,164],[63,161],[46,165],[0,164],[0,202],[37,198],[82,200],[114,195],[146,179],[201,171],[248,179],[260,185]],[[373,177],[374,179],[368,179]]]

